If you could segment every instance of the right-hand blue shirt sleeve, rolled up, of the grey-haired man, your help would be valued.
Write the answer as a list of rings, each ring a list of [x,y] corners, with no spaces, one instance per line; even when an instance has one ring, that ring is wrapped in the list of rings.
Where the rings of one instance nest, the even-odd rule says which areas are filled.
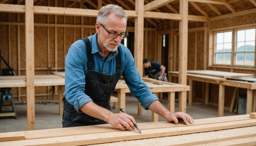
[[[148,110],[148,106],[152,102],[159,100],[155,94],[152,94],[150,88],[142,80],[131,52],[129,52],[122,75],[132,95],[138,99],[144,109]]]

